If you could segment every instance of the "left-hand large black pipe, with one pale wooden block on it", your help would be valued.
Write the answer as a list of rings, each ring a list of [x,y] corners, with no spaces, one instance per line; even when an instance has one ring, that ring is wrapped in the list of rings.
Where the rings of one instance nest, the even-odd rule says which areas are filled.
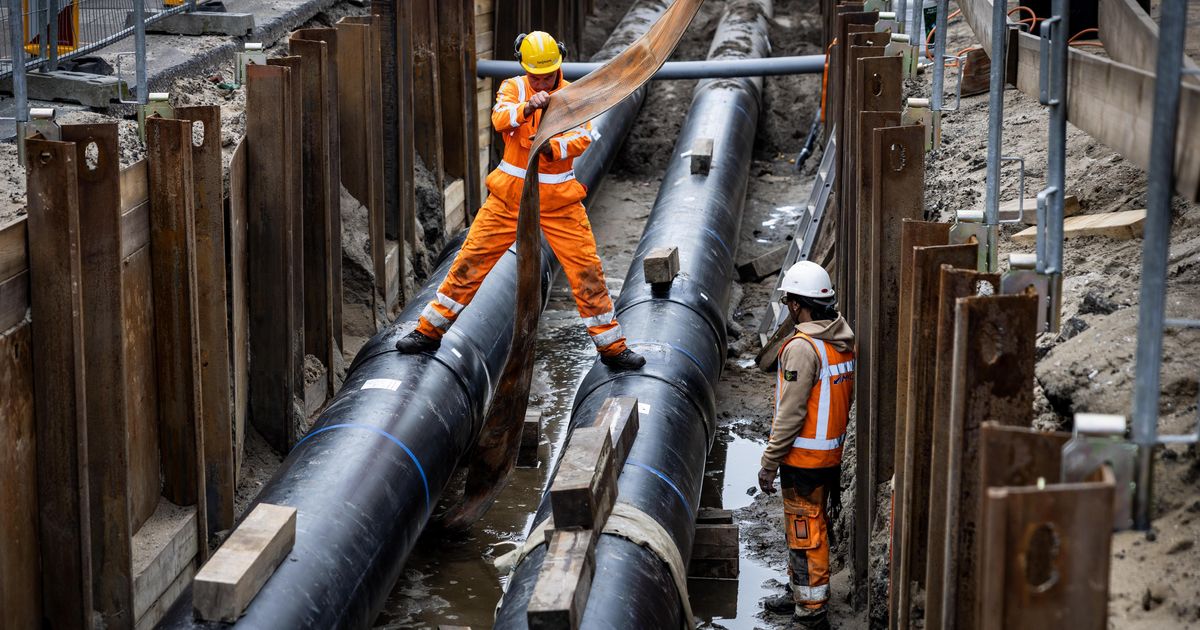
[[[666,6],[662,0],[640,1],[599,54],[617,54],[624,47],[619,42],[641,36]],[[640,90],[594,121],[598,138],[576,161],[576,176],[589,187],[589,199],[643,100]],[[416,319],[461,242],[462,235],[397,322]],[[557,260],[544,246],[542,295],[548,295],[556,270]],[[296,539],[239,626],[324,630],[371,624],[460,458],[475,443],[511,344],[515,294],[516,257],[510,251],[436,355],[397,353],[394,344],[403,332],[398,326],[362,347],[341,391],[254,499],[254,505],[296,508]],[[222,624],[192,618],[188,589],[161,626]]]

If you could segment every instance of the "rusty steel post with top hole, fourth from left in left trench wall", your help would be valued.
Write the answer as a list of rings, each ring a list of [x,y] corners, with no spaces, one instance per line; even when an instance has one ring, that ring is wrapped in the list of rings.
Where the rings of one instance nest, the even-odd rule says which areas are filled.
[[[196,193],[196,292],[200,354],[200,416],[204,432],[204,496],[208,527],[221,532],[234,522],[233,391],[226,283],[224,173],[221,163],[221,108],[178,107],[175,118],[203,128],[192,143]],[[194,136],[194,133],[193,133]]]

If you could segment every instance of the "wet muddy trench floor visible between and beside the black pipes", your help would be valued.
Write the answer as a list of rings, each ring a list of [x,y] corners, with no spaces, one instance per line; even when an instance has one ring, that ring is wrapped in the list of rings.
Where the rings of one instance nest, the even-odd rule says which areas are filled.
[[[724,2],[706,2],[676,58],[697,59],[707,52]],[[815,2],[775,2],[770,24],[774,54],[816,52],[806,37]],[[691,49],[689,50],[689,46]],[[612,174],[589,205],[600,257],[613,298],[637,247],[654,205],[679,125],[688,112],[695,82],[650,85],[646,106],[622,148]],[[820,161],[814,156],[802,173],[791,157],[803,145],[817,104],[820,78],[775,77],[764,85],[762,116],[750,167],[736,262],[754,258],[790,238]],[[756,343],[749,337],[768,299],[774,277],[734,282],[730,305],[733,328],[730,353],[716,388],[718,432],[706,463],[701,505],[733,510],[742,523],[738,580],[689,580],[689,595],[701,628],[787,628],[787,617],[764,613],[761,601],[786,582],[786,546],[779,529],[781,502],[757,491],[758,458],[769,431],[774,378],[752,367]],[[508,576],[493,566],[496,557],[520,545],[533,523],[553,462],[564,443],[576,389],[594,361],[583,325],[575,312],[565,278],[557,278],[544,312],[538,340],[532,407],[542,412],[540,466],[517,469],[497,505],[463,538],[428,532],[408,558],[376,628],[491,628]],[[847,510],[848,511],[848,510]],[[835,568],[845,550],[835,548]],[[835,598],[845,599],[846,571],[835,576]],[[840,588],[839,584],[840,583]],[[841,596],[838,596],[838,593]],[[839,628],[865,628],[862,613],[834,601]]]

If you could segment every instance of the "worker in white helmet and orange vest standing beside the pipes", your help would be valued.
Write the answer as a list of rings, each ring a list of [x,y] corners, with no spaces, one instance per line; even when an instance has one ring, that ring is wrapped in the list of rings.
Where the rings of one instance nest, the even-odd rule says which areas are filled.
[[[791,593],[764,607],[806,630],[829,628],[829,526],[840,510],[841,449],[854,391],[854,332],[838,311],[829,274],[792,265],[780,283],[796,335],[779,352],[775,419],[758,487],[784,488]],[[828,502],[828,505],[827,505]]]

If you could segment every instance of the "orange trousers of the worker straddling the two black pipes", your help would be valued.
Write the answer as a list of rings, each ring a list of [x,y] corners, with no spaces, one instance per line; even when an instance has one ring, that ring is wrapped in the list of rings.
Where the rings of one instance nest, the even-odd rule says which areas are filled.
[[[487,197],[437,296],[421,312],[416,330],[433,338],[445,335],[470,304],[496,262],[516,241],[518,210],[517,205],[496,194]],[[542,211],[541,229],[566,272],[575,305],[596,349],[605,356],[620,354],[625,350],[625,337],[608,298],[604,268],[596,256],[595,236],[583,204],[576,202]]]

